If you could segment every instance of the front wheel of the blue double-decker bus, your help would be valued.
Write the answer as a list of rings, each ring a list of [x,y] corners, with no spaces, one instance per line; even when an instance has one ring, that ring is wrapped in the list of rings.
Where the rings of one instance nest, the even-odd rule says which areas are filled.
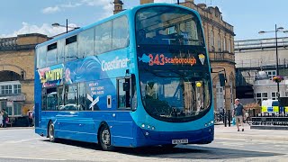
[[[111,145],[111,133],[107,125],[103,125],[99,131],[99,142],[103,150],[113,150]]]

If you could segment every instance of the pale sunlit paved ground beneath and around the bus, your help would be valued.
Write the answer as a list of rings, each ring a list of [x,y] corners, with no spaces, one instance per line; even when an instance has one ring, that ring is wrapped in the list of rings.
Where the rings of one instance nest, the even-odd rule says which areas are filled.
[[[179,145],[171,149],[119,148],[103,152],[93,143],[61,140],[57,143],[35,134],[32,127],[0,129],[0,162],[4,161],[288,161],[287,130],[245,131],[215,125],[215,139],[205,145]],[[4,148],[4,149],[1,149]]]

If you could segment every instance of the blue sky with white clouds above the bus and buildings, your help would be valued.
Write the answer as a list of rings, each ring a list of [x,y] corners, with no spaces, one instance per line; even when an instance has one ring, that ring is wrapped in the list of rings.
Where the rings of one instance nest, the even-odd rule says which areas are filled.
[[[124,8],[139,5],[139,0],[122,0]],[[176,3],[177,0],[154,0],[156,3]],[[52,27],[52,23],[85,26],[112,15],[113,0],[2,0],[0,5],[0,38],[24,33],[48,36],[65,32],[66,28]],[[180,0],[184,2],[184,0]],[[288,30],[287,0],[194,0],[218,6],[223,20],[234,26],[235,40],[274,38],[258,31],[275,31],[275,24]],[[288,37],[279,32],[278,37]]]

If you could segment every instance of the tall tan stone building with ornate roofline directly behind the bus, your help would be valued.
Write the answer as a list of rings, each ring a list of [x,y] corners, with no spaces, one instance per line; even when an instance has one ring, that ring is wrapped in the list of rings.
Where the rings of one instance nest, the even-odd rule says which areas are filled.
[[[117,1],[117,2],[116,2]],[[120,0],[115,0],[115,11],[118,10]],[[140,4],[154,3],[154,0],[140,0]],[[213,68],[213,94],[215,111],[221,112],[223,108],[233,108],[236,96],[235,86],[235,55],[233,26],[222,20],[219,8],[207,7],[206,4],[194,4],[193,0],[184,0],[181,5],[196,10],[202,18],[202,28],[205,34],[206,45],[209,50],[211,67]],[[220,86],[218,73],[225,69],[227,82]]]

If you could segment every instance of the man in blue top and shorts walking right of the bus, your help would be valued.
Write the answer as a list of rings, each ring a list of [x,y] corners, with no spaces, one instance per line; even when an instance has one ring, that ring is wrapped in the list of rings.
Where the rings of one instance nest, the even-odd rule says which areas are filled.
[[[235,99],[234,106],[235,106],[235,108],[233,109],[232,114],[233,114],[233,118],[235,117],[235,119],[236,119],[237,129],[239,131],[239,122],[240,122],[241,127],[242,127],[242,131],[244,131],[243,117],[245,115],[245,111],[244,111],[243,105],[240,103],[240,100],[238,98]]]

